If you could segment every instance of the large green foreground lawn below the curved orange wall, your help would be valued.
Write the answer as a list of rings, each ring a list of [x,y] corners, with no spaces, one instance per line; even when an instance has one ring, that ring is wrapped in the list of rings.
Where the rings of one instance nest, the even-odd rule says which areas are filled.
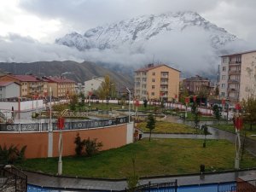
[[[199,173],[234,169],[235,146],[226,140],[143,139],[121,148],[102,151],[92,157],[64,157],[63,175],[78,177],[125,178],[135,169],[139,177]],[[23,169],[56,174],[58,158],[26,160]],[[245,153],[241,168],[256,166],[256,158]]]

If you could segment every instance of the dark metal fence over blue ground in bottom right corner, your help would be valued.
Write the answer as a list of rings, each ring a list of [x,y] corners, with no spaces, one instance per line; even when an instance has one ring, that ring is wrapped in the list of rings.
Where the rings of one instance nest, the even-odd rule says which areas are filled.
[[[219,183],[218,192],[256,192],[256,180]]]

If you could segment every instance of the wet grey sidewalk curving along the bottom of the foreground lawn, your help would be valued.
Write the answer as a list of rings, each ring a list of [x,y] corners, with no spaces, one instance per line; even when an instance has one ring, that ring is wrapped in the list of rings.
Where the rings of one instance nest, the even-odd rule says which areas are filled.
[[[73,190],[123,190],[126,188],[125,180],[110,180],[110,179],[92,179],[92,178],[76,178],[76,177],[55,177],[44,174],[25,172],[28,178],[28,183],[41,187],[50,187],[55,189],[73,189]],[[198,185],[206,183],[224,183],[234,182],[237,177],[252,175],[256,177],[256,171],[241,171],[241,172],[223,172],[211,174],[197,174],[187,176],[170,176],[170,177],[151,177],[143,178],[140,184],[151,183],[166,183],[173,182],[177,179],[177,185]]]

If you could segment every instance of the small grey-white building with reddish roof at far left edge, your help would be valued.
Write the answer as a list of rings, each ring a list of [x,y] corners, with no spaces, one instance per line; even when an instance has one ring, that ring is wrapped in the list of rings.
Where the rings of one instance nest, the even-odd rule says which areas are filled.
[[[0,99],[20,96],[20,84],[13,81],[0,82]]]

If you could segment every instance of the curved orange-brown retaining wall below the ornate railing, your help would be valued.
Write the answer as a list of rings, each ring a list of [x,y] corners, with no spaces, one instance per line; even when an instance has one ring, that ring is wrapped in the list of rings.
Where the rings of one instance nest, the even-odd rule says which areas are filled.
[[[75,154],[75,144],[73,142],[77,133],[79,133],[82,139],[87,139],[88,137],[90,137],[90,139],[97,138],[97,141],[103,144],[102,150],[119,148],[126,143],[132,142],[132,135],[127,136],[128,133],[131,134],[131,125],[129,125],[127,129],[127,125],[125,124],[90,130],[62,131],[63,156]],[[26,158],[46,158],[48,157],[50,147],[48,135],[48,132],[0,132],[0,145],[3,146],[6,144],[9,147],[11,144],[14,144],[18,145],[19,148],[26,145]],[[52,145],[52,154],[54,157],[58,156],[58,142],[59,131],[54,131]]]

